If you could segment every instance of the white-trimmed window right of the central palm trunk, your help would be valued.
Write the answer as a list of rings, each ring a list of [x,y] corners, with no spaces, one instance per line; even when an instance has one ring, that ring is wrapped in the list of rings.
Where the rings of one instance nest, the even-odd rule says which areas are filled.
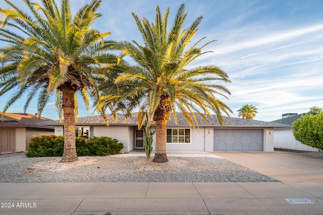
[[[189,128],[168,128],[168,144],[189,144],[191,142],[191,129]]]

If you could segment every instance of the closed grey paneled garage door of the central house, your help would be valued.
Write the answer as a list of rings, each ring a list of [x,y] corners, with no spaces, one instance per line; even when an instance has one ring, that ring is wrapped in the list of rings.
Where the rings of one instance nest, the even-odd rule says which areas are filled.
[[[214,151],[263,151],[263,129],[214,129]]]

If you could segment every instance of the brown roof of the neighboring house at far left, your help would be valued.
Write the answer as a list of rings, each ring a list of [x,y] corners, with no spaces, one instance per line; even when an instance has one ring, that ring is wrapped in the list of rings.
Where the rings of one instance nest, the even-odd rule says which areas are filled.
[[[0,116],[3,116],[3,112],[0,112]],[[4,126],[17,126],[17,127],[43,127],[53,128],[47,124],[38,124],[40,122],[52,121],[44,117],[38,117],[30,113],[5,113],[4,120],[0,120],[0,127]]]

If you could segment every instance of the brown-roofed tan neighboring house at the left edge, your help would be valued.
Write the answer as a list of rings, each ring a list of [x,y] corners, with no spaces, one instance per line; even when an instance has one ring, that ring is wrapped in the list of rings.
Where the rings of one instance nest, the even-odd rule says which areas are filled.
[[[3,112],[0,112],[3,116]],[[54,134],[54,127],[48,125],[37,125],[39,122],[49,121],[37,114],[29,113],[6,113],[0,120],[0,151],[22,152],[28,150],[29,140],[33,135]]]

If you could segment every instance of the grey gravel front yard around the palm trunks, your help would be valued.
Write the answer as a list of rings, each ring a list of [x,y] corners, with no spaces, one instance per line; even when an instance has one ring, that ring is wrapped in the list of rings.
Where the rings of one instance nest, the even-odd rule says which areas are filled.
[[[27,158],[15,153],[0,156],[0,182],[279,182],[208,153],[172,154],[168,159],[154,163],[140,154],[124,154],[60,163],[61,157]]]

